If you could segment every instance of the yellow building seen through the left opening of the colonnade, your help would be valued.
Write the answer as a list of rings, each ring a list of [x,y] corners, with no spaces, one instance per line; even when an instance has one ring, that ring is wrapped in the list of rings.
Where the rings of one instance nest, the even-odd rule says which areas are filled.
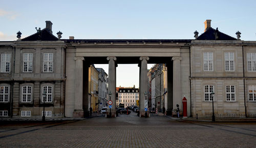
[[[96,68],[91,65],[89,68],[89,87],[88,92],[89,96],[91,96],[91,107],[93,109],[93,112],[97,112],[98,110],[98,79],[99,79],[99,72],[96,70]]]

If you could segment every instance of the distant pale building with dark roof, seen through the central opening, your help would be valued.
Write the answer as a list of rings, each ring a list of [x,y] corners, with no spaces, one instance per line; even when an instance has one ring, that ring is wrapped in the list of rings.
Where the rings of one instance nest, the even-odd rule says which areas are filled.
[[[136,101],[139,100],[139,88],[134,87],[118,87],[118,100],[116,100],[116,106],[124,104],[127,106],[137,106]]]

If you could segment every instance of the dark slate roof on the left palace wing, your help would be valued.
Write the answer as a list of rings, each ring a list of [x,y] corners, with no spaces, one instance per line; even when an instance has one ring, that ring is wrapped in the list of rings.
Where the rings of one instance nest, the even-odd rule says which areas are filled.
[[[39,36],[39,33],[35,33],[31,36],[28,36],[24,39],[22,39],[22,41],[37,41],[37,40],[40,40],[40,41],[57,41],[58,38],[55,37],[50,31],[48,31],[47,28],[44,28],[41,30],[41,38],[38,37]]]

